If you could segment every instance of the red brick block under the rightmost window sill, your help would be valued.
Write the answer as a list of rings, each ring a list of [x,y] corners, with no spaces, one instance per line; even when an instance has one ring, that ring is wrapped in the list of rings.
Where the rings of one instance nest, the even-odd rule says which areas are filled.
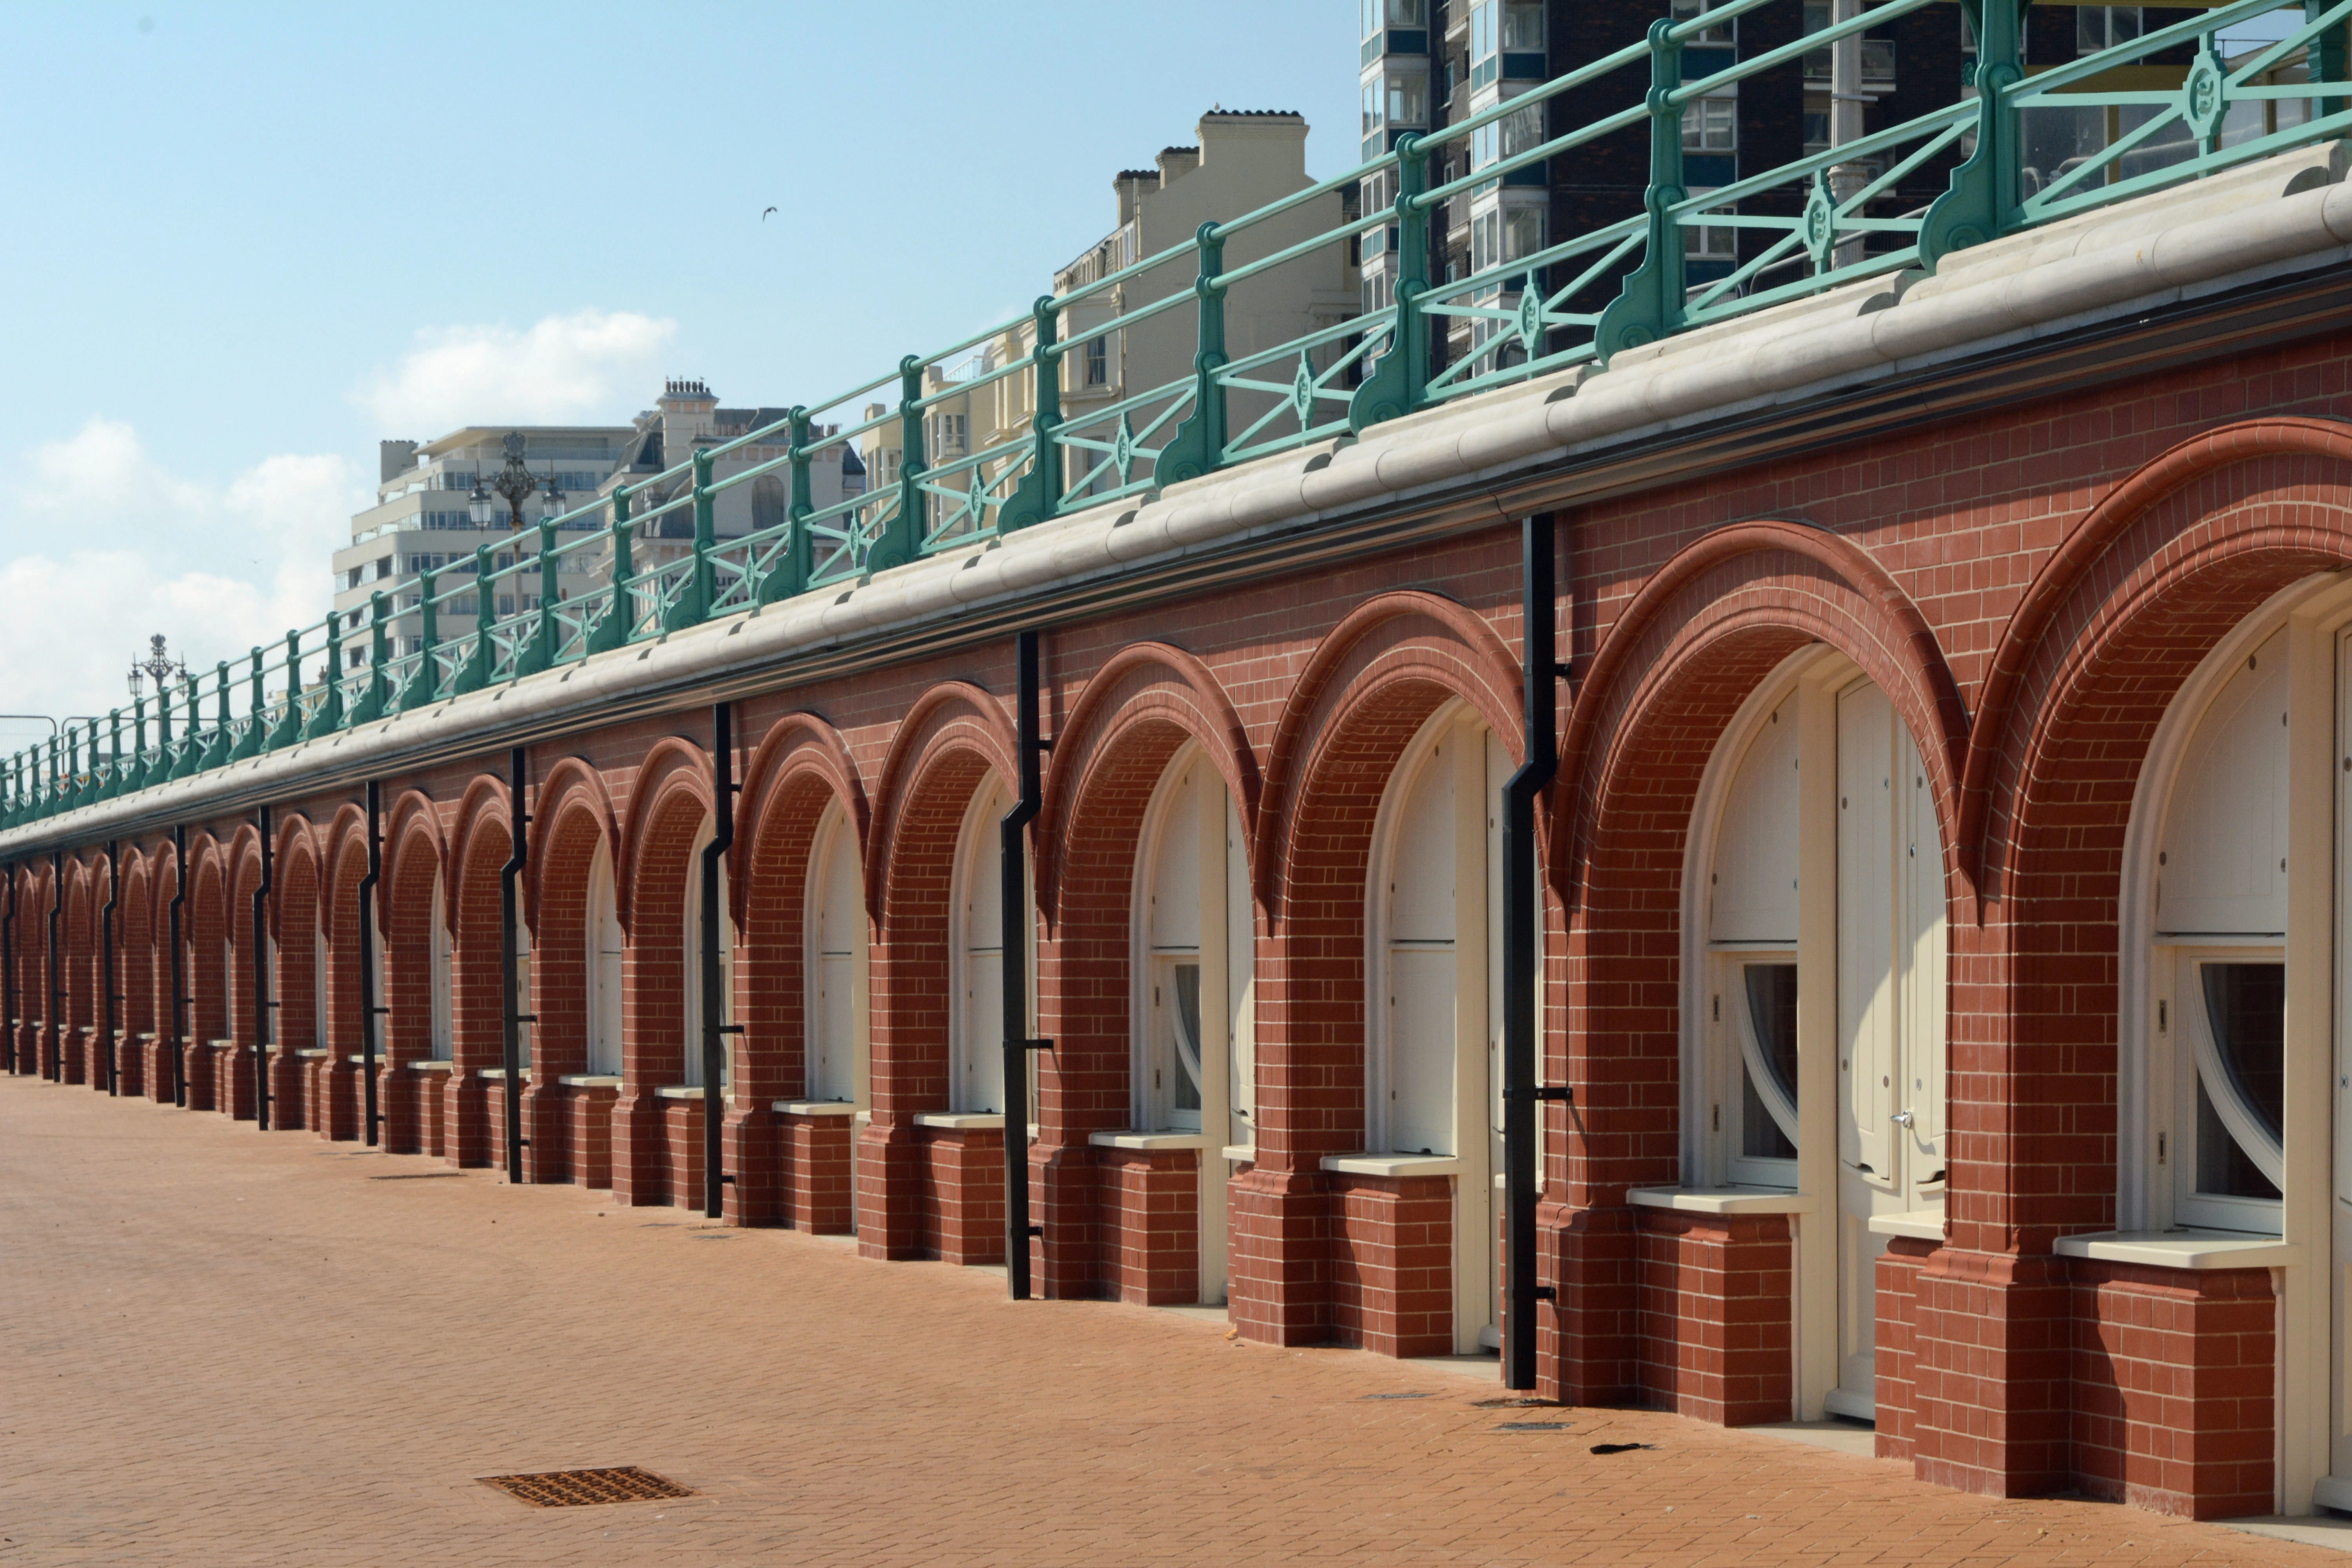
[[[2270,1269],[2067,1262],[2082,1490],[2183,1519],[2267,1514],[2277,1486]]]

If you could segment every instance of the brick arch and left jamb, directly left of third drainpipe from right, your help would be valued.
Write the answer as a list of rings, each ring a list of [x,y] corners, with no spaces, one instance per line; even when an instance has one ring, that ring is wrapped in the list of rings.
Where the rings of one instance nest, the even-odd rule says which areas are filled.
[[[687,886],[694,835],[710,816],[708,757],[684,741],[661,741],[628,802],[630,884],[623,983],[630,1072],[642,1084],[677,1084],[687,1048]],[[619,872],[619,863],[614,867]],[[713,1086],[713,1093],[717,1088]]]

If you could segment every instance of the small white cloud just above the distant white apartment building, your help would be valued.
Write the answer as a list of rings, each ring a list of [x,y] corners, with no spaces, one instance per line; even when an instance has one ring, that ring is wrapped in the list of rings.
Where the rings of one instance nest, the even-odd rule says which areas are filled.
[[[428,327],[390,371],[350,397],[386,435],[433,440],[468,423],[614,416],[652,381],[677,322],[633,310],[550,315],[513,327]]]

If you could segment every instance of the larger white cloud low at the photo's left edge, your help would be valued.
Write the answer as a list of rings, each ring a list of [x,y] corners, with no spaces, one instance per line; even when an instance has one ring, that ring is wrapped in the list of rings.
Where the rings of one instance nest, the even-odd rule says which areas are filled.
[[[339,456],[270,456],[228,484],[158,465],[139,433],[92,418],[35,447],[0,494],[0,670],[12,712],[125,705],[125,670],[162,632],[212,668],[327,614],[329,552],[367,487]],[[47,726],[0,729],[12,752]]]

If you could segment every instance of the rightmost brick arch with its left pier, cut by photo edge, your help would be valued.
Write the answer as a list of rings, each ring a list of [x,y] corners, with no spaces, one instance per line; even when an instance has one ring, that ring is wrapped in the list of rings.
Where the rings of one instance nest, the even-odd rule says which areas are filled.
[[[2140,766],[2234,625],[2352,567],[2347,456],[2267,449],[2138,487],[2147,505],[2042,614],[1985,743],[1985,914],[1952,943],[1955,978],[1985,994],[1955,1006],[1955,1060],[1966,1025],[1990,1079],[1952,1107],[1955,1246],[2046,1253],[2114,1222],[2117,943]],[[2034,1135],[2044,1126],[2070,1135]]]

